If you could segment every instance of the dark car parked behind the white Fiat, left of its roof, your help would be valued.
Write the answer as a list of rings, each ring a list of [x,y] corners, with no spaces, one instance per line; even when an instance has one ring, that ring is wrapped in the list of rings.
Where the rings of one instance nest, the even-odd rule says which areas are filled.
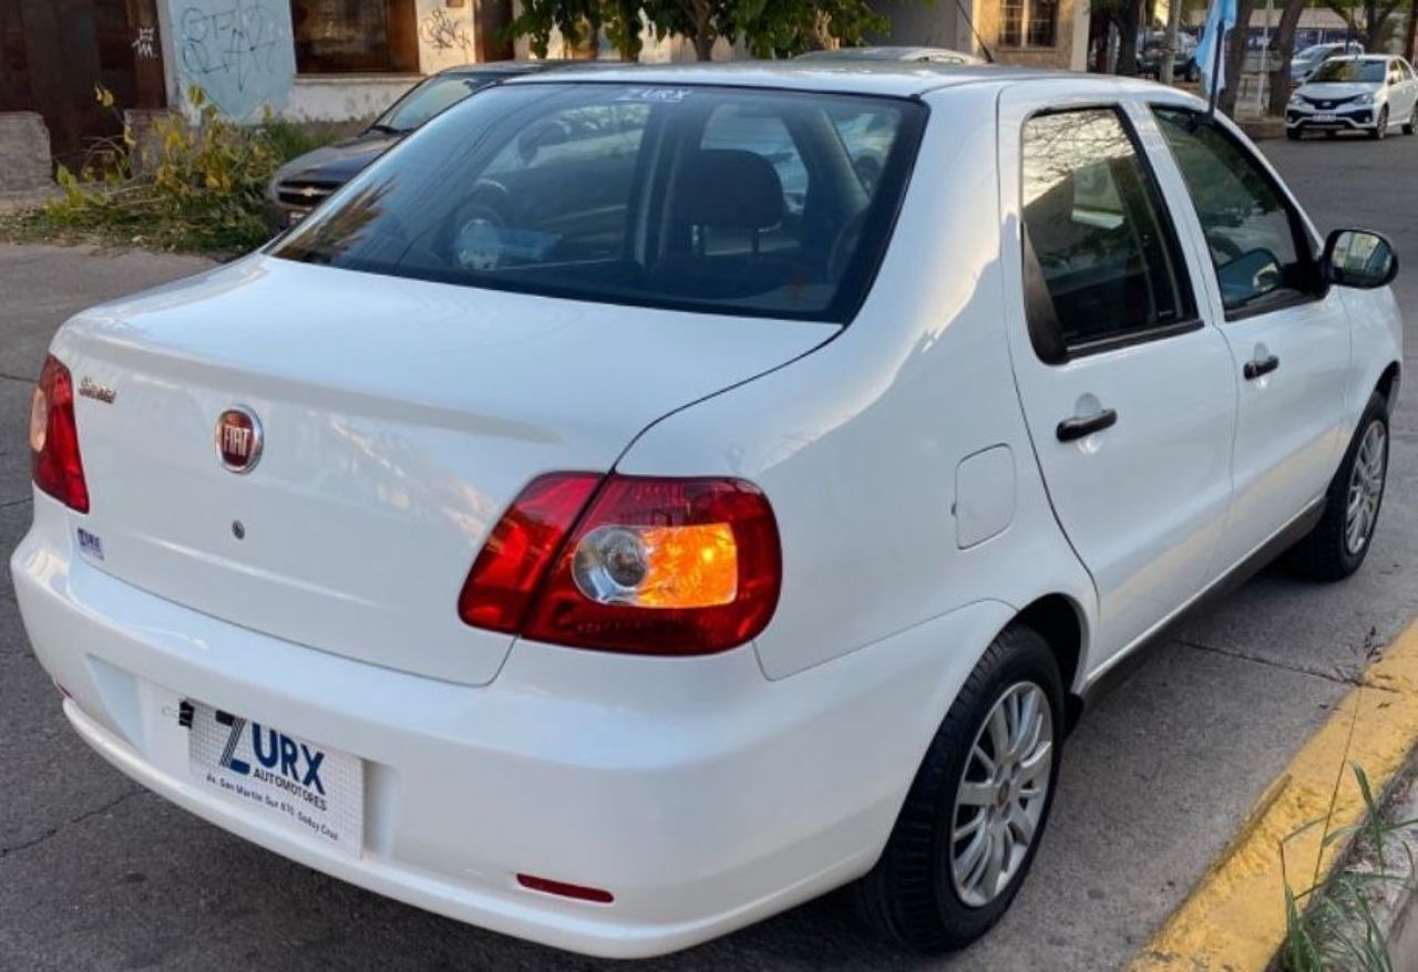
[[[465,64],[425,78],[354,137],[308,152],[281,166],[271,180],[271,186],[267,187],[267,225],[272,232],[281,232],[303,220],[325,197],[398,145],[406,135],[475,91],[508,78],[569,64],[579,62],[495,61]]]

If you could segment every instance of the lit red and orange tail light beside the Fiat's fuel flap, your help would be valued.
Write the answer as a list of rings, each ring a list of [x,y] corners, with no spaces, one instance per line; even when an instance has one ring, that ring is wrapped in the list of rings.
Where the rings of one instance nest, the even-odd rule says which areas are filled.
[[[637,655],[710,655],[767,626],[773,509],[737,479],[556,473],[493,529],[458,602],[476,628]]]

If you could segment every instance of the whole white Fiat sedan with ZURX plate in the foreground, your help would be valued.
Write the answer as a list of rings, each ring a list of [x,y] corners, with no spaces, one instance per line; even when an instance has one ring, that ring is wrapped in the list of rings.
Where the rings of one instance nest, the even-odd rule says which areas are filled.
[[[851,884],[957,948],[1126,657],[1363,563],[1395,269],[1146,82],[519,79],[60,330],[16,592],[105,759],[354,884],[614,956]]]

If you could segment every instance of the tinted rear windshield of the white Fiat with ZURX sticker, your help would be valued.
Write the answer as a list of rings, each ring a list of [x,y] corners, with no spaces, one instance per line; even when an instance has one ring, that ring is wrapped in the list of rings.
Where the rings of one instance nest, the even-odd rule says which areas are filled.
[[[847,322],[925,108],[723,88],[523,84],[444,112],[274,255],[607,303]]]

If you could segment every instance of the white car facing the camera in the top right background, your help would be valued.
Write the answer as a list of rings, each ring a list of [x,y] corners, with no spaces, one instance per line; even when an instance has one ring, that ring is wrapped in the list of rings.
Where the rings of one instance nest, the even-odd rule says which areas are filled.
[[[1383,139],[1395,126],[1418,130],[1418,77],[1401,57],[1366,54],[1324,61],[1285,106],[1285,133],[1367,132]]]

